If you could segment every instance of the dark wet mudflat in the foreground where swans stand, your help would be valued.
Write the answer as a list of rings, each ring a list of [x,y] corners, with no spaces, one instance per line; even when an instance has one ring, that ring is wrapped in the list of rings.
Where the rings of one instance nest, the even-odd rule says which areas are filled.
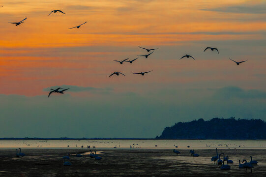
[[[2,177],[86,177],[86,176],[218,176],[218,177],[265,177],[266,150],[262,149],[218,149],[229,159],[231,170],[220,170],[210,161],[216,155],[215,149],[195,149],[199,157],[192,157],[189,149],[178,149],[176,155],[171,149],[114,149],[101,150],[101,160],[90,159],[89,149],[23,149],[25,157],[16,157],[14,149],[0,149],[0,176]],[[73,154],[71,166],[63,166],[62,156]],[[238,159],[258,161],[253,173],[238,169]]]

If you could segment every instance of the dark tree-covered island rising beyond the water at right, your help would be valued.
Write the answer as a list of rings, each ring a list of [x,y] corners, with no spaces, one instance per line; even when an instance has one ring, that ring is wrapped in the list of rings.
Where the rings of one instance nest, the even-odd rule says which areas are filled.
[[[261,119],[203,118],[166,127],[155,139],[266,140],[266,122]]]

